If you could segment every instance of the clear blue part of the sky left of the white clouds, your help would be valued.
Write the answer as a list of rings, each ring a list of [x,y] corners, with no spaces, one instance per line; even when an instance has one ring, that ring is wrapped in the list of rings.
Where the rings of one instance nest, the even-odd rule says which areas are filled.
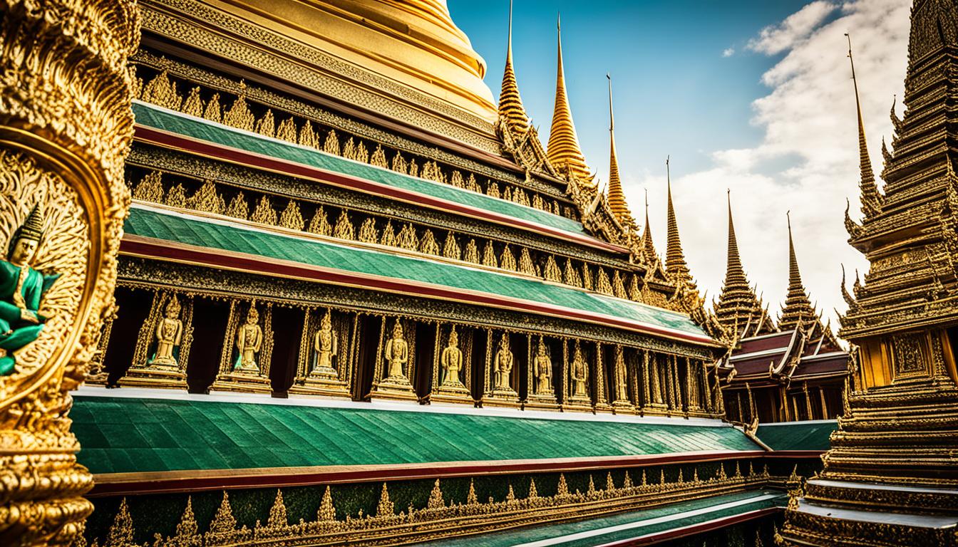
[[[620,163],[637,171],[704,169],[708,152],[752,146],[751,102],[767,92],[763,73],[775,57],[745,51],[765,26],[805,2],[615,2],[518,0],[513,60],[527,111],[548,137],[556,85],[556,13],[562,16],[566,85],[583,152],[607,178],[612,75]],[[508,0],[449,0],[456,24],[486,59],[486,82],[498,97],[506,56]],[[722,57],[733,48],[736,55]]]

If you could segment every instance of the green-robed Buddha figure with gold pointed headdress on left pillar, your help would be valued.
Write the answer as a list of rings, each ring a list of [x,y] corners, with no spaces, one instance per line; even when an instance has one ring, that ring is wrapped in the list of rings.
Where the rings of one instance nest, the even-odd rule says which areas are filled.
[[[32,267],[43,237],[43,212],[34,205],[22,226],[13,232],[7,260],[0,260],[0,375],[13,373],[14,352],[33,342],[46,318],[39,314],[40,298],[57,275]]]

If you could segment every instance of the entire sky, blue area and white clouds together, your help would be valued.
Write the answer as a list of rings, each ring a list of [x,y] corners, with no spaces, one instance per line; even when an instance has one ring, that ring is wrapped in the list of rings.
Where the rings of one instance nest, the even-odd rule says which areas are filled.
[[[519,91],[544,142],[556,82],[556,12],[566,83],[582,151],[608,178],[612,75],[616,145],[627,201],[665,251],[665,157],[686,258],[709,300],[725,273],[725,191],[731,189],[741,259],[775,314],[787,289],[786,212],[802,278],[826,318],[845,308],[841,266],[868,263],[847,243],[858,208],[855,69],[869,152],[881,171],[888,108],[902,96],[911,0],[517,0],[513,57]],[[498,96],[508,0],[448,0],[455,23],[486,59]],[[898,107],[901,115],[901,103]],[[890,139],[889,139],[890,141]]]

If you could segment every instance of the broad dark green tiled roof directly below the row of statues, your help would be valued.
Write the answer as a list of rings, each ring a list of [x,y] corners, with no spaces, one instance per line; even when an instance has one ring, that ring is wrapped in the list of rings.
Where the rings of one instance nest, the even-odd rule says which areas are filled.
[[[197,399],[76,397],[93,473],[755,450],[730,426],[546,420]]]

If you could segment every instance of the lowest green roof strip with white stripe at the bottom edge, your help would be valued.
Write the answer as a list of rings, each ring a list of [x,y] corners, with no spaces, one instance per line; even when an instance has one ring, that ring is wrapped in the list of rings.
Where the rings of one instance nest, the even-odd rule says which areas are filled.
[[[461,536],[425,543],[429,547],[513,547],[535,541],[561,547],[591,547],[694,526],[710,520],[780,507],[788,496],[776,490],[750,490],[682,503],[506,532]],[[746,543],[751,544],[751,543]]]

